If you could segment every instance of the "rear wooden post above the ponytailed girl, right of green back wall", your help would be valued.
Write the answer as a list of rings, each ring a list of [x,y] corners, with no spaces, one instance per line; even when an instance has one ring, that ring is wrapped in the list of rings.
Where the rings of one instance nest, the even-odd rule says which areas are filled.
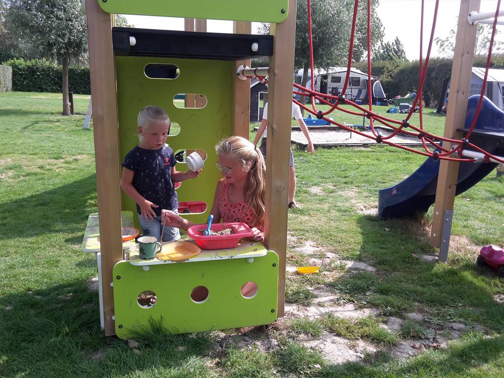
[[[233,33],[250,34],[251,32],[251,22],[233,21]],[[250,59],[237,60],[236,68],[243,65],[250,67],[250,62]],[[250,80],[234,79],[233,102],[233,135],[248,139],[250,131]]]

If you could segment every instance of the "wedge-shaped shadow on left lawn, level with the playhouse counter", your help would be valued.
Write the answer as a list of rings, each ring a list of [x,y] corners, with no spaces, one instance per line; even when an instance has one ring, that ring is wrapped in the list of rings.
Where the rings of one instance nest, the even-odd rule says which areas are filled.
[[[95,196],[96,176],[92,174],[67,185],[0,204],[0,240],[59,232],[84,234],[82,224],[94,208]]]

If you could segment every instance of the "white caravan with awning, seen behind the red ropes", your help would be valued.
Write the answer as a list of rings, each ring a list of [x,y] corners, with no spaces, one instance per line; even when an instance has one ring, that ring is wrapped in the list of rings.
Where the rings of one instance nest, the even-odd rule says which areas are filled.
[[[330,67],[324,72],[315,71],[314,88],[317,92],[339,95],[345,84],[345,78],[347,74],[347,69],[343,67]],[[301,83],[301,78],[303,75],[303,70],[299,70],[296,73],[296,83]],[[309,78],[308,72],[308,83],[306,88],[311,89],[311,80]],[[350,69],[350,80],[348,81],[348,86],[343,93],[345,97],[351,101],[357,103],[367,103],[368,102],[368,88],[372,88],[371,96],[372,102],[384,103],[386,102],[386,96],[380,83],[380,79],[377,76],[371,76],[371,83],[368,83],[368,76],[366,73],[357,70]]]

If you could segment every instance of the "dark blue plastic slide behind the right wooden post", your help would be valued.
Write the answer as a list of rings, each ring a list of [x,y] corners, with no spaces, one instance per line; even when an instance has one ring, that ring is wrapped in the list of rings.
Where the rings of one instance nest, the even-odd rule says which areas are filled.
[[[468,130],[471,125],[478,100],[479,95],[469,98],[465,130]],[[504,112],[486,97],[483,98],[470,142],[493,155],[504,155]],[[496,166],[496,163],[461,162],[456,195],[467,191]],[[435,201],[438,171],[439,160],[428,158],[404,181],[380,190],[378,194],[379,217],[395,218],[425,213]]]

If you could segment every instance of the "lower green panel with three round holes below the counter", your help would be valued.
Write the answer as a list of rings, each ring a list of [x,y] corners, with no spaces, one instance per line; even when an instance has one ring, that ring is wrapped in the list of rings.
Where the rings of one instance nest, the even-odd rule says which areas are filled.
[[[146,268],[146,267],[144,267]],[[258,285],[257,294],[245,298],[241,286]],[[120,261],[113,268],[115,332],[121,339],[134,330],[160,321],[171,333],[202,332],[270,324],[277,317],[278,256],[152,265],[143,267]],[[201,303],[191,299],[197,286],[208,289]],[[157,301],[142,307],[138,295],[153,291]]]

